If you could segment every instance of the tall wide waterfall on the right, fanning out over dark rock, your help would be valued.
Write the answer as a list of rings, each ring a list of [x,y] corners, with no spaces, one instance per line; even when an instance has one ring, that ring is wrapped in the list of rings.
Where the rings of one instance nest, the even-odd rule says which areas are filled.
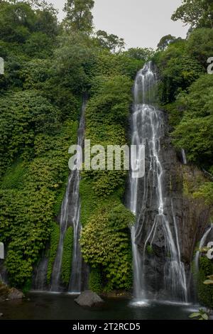
[[[164,169],[161,163],[165,136],[165,116],[156,109],[156,72],[153,63],[146,64],[136,76],[134,104],[131,119],[131,144],[146,146],[146,175],[143,180],[130,175],[130,205],[136,215],[136,225],[131,228],[134,269],[134,294],[138,300],[151,298],[148,281],[160,285],[172,300],[187,301],[185,267],[181,262],[178,226],[173,199],[165,197]],[[173,212],[169,221],[168,206]],[[158,259],[147,256],[148,249],[163,252],[163,262],[158,269]],[[159,259],[162,258],[160,255]],[[147,278],[148,276],[148,278]],[[152,297],[153,298],[153,297]]]

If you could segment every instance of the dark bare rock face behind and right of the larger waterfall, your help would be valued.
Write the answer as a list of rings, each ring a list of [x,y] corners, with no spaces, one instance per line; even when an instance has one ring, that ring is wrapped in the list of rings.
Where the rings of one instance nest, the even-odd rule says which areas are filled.
[[[165,124],[166,124],[165,117]],[[160,162],[163,167],[163,198],[165,201],[165,216],[170,223],[170,230],[175,235],[175,225],[178,229],[178,243],[180,247],[181,261],[185,266],[188,297],[190,298],[190,286],[192,275],[190,263],[193,260],[193,252],[197,242],[201,239],[206,226],[209,224],[210,208],[205,207],[200,199],[192,198],[195,185],[204,183],[206,180],[201,171],[191,166],[182,165],[175,149],[170,143],[170,138],[165,131],[165,136],[160,140]],[[149,161],[146,161],[146,171]],[[165,249],[165,233],[163,222],[151,235],[153,222],[158,215],[157,185],[150,174],[148,178],[142,178],[138,182],[138,231],[136,244],[144,259],[143,274],[146,277],[146,288],[153,298],[168,299],[165,296],[165,268],[170,259]],[[176,243],[176,240],[175,240]],[[181,298],[181,296],[180,296]],[[178,296],[177,296],[178,299]]]

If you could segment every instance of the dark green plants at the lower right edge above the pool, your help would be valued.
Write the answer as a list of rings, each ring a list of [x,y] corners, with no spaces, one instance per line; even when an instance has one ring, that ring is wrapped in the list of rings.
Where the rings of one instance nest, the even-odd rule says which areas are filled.
[[[207,257],[201,257],[200,270],[197,275],[197,293],[200,303],[209,308],[213,308],[213,286],[204,284],[207,276],[212,275],[213,264]]]

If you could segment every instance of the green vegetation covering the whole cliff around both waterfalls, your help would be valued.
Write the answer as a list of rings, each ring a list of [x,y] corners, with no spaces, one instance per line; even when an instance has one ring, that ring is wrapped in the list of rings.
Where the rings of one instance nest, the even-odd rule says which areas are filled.
[[[133,78],[153,59],[160,77],[158,102],[168,112],[175,148],[185,149],[190,163],[213,173],[213,75],[207,75],[207,58],[213,55],[212,1],[182,1],[173,20],[190,24],[187,38],[163,36],[156,52],[124,50],[119,36],[94,31],[93,6],[93,0],[67,0],[65,19],[58,23],[55,9],[43,0],[0,1],[0,56],[5,61],[0,76],[0,235],[10,283],[24,290],[48,245],[50,284],[68,148],[77,142],[85,93],[86,139],[105,149],[129,144]],[[101,167],[83,172],[80,182],[82,256],[91,269],[90,289],[129,290],[134,217],[124,205],[127,173]],[[201,180],[192,195],[213,205],[212,182]],[[65,286],[72,245],[69,227],[62,255]],[[153,253],[151,246],[147,252]],[[212,264],[201,262],[200,300],[210,307],[212,286],[201,282],[212,275]]]

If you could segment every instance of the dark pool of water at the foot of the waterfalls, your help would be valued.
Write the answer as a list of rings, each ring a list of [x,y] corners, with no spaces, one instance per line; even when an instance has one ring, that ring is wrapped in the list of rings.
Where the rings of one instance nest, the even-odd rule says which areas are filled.
[[[0,303],[2,320],[185,320],[196,310],[192,305],[150,303],[131,306],[126,299],[107,299],[102,308],[81,308],[75,296],[30,293],[30,301]]]

